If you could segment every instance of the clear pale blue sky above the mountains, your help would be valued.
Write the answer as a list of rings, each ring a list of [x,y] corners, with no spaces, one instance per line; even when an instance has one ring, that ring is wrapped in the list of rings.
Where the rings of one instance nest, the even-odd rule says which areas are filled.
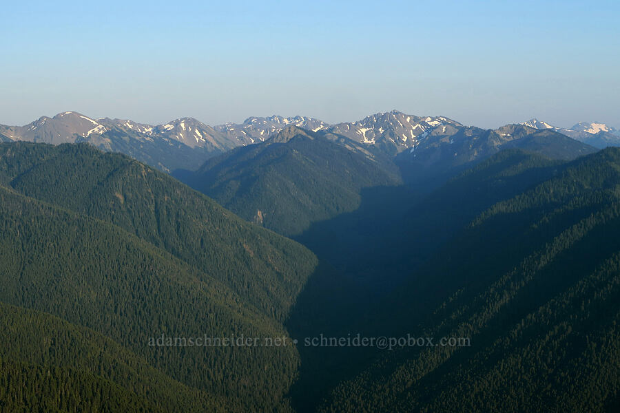
[[[10,1],[0,123],[398,109],[620,127],[620,2]]]

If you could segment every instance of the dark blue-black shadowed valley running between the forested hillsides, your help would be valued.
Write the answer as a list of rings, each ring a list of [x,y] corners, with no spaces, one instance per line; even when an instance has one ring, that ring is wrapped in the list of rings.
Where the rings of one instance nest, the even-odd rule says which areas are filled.
[[[544,182],[563,165],[518,149],[501,151],[422,200],[402,187],[375,189],[364,194],[358,211],[313,225],[298,239],[338,271],[329,275],[322,271],[304,288],[289,320],[291,334],[346,337],[367,331],[370,321],[382,314],[376,309],[382,295],[401,288],[442,243],[495,202]],[[398,306],[400,301],[411,298],[398,297],[386,305]],[[380,319],[386,325],[400,325],[406,317]],[[373,353],[300,349],[302,380],[293,388],[298,404],[316,405],[330,383],[351,377],[369,363],[369,351]],[[332,367],[323,368],[322,363]],[[313,383],[315,393],[305,390],[310,387],[306,381]]]

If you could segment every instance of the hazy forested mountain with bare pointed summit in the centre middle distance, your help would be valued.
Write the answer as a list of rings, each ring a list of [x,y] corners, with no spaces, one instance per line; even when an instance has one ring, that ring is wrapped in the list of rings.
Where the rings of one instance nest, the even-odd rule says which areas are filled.
[[[285,129],[260,144],[234,149],[187,178],[242,218],[284,235],[354,210],[364,187],[399,181],[395,167],[380,154],[346,138],[302,129]]]

